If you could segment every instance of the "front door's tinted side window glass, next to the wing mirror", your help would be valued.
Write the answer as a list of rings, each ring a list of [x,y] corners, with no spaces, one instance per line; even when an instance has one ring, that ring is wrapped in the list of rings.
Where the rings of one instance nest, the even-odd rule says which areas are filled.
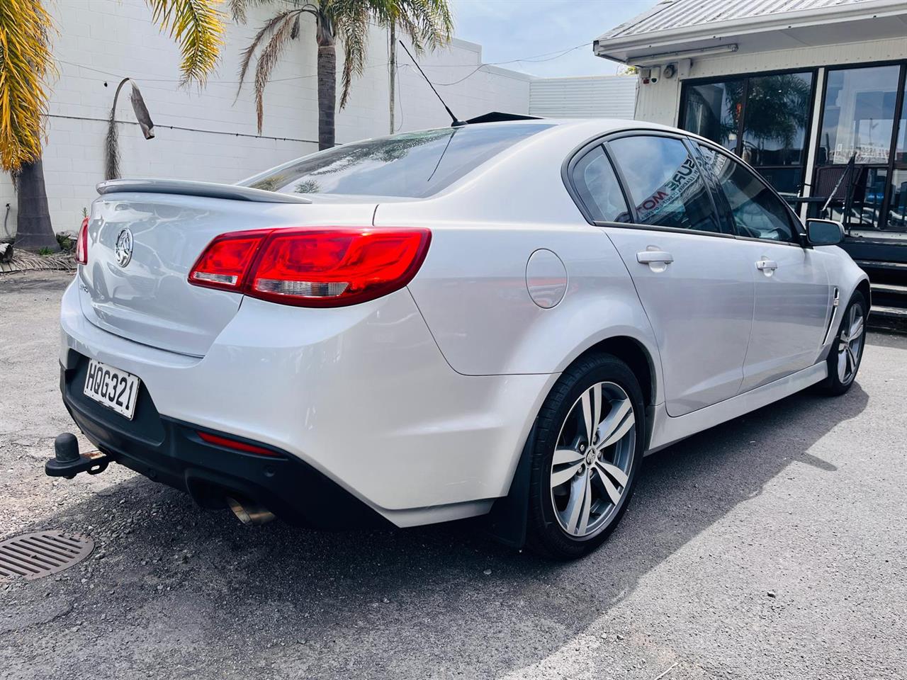
[[[790,213],[764,181],[730,156],[701,145],[699,150],[727,199],[740,236],[797,242]]]

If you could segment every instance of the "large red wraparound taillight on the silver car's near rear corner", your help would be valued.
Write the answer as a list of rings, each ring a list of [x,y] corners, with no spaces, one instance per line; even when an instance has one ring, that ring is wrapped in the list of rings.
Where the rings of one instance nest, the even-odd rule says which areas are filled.
[[[422,266],[424,228],[285,228],[223,234],[210,242],[190,284],[285,305],[346,306],[404,287]]]

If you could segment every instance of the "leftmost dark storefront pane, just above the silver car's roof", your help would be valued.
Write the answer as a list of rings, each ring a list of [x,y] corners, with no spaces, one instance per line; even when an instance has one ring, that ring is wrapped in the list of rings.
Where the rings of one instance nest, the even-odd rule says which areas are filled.
[[[686,90],[684,128],[736,151],[745,81],[707,83]]]

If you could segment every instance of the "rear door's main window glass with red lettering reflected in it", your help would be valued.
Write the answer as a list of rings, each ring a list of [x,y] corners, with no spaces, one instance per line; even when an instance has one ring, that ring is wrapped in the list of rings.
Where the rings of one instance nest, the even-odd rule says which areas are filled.
[[[624,137],[609,142],[640,224],[720,231],[706,182],[680,140]]]

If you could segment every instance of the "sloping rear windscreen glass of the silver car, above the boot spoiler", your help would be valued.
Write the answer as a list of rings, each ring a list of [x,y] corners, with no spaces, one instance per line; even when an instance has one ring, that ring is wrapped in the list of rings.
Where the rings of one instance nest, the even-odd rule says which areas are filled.
[[[421,199],[551,125],[468,125],[406,132],[319,151],[254,180],[280,193]]]

